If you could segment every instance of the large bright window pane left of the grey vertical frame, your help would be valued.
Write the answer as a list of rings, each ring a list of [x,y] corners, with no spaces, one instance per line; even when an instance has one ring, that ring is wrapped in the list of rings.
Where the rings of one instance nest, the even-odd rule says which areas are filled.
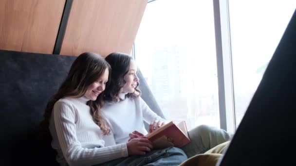
[[[134,49],[167,119],[220,127],[212,0],[148,3]]]

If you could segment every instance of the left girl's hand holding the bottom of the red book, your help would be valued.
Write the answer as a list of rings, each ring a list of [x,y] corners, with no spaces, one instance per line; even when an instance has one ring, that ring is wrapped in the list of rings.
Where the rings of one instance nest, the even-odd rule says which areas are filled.
[[[146,152],[151,151],[152,142],[147,138],[133,138],[127,143],[129,156],[131,155],[144,155]]]

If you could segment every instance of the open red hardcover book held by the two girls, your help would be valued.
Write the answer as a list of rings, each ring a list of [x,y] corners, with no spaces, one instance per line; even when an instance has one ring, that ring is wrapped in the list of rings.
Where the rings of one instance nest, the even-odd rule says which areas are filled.
[[[185,121],[179,124],[170,121],[145,136],[153,143],[154,149],[164,149],[168,147],[180,148],[190,142]]]

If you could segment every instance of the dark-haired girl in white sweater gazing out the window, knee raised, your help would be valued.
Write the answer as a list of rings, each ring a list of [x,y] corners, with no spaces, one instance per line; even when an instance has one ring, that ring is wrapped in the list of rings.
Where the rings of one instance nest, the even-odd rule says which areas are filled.
[[[150,124],[149,132],[164,125],[166,120],[156,115],[140,97],[135,61],[129,55],[117,52],[111,53],[105,60],[110,64],[112,73],[110,86],[104,91],[102,115],[114,133],[116,144],[143,138],[148,133],[144,121]],[[181,148],[188,158],[230,139],[226,131],[207,125],[190,130],[188,135],[191,142]]]

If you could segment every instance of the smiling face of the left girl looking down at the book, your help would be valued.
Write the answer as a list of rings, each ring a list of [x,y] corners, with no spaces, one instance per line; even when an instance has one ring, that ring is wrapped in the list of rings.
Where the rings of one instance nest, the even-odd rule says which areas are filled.
[[[108,82],[109,70],[105,69],[101,77],[89,85],[84,96],[89,100],[96,100],[100,93],[105,90],[106,83]]]

